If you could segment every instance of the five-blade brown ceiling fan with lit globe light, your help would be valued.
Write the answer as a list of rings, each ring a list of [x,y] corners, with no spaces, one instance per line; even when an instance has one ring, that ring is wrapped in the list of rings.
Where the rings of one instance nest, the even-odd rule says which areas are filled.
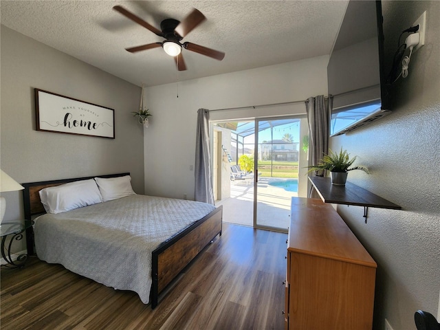
[[[197,25],[206,19],[206,17],[195,8],[193,8],[190,14],[188,14],[188,16],[185,17],[181,22],[177,21],[177,19],[164,19],[160,23],[160,30],[155,28],[153,25],[146,23],[146,21],[140,17],[137,17],[135,14],[129,12],[125,8],[122,8],[120,5],[115,5],[113,9],[131,19],[131,21],[142,25],[144,28],[150,30],[157,36],[162,36],[165,38],[162,43],[148,43],[146,45],[126,48],[126,51],[128,52],[135,53],[142,50],[151,50],[153,48],[162,47],[166,54],[174,57],[177,69],[179,71],[186,70],[184,57],[181,54],[182,48],[190,50],[191,52],[196,52],[201,55],[215,58],[219,61],[223,60],[225,57],[225,53],[219,52],[218,50],[212,50],[208,47],[203,47],[195,43],[180,43],[181,39],[184,39],[188,33],[194,30]]]

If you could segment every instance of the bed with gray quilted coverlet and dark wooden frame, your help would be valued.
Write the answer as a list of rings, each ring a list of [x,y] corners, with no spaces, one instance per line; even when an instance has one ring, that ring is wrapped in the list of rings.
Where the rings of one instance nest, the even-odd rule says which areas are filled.
[[[127,176],[129,173],[120,173],[101,175],[98,179],[104,181]],[[93,179],[96,177],[23,184],[25,219],[35,220],[34,228],[30,228],[26,235],[28,254],[35,254],[36,246],[40,259],[61,263],[72,272],[109,287],[135,291],[143,303],[151,303],[154,309],[167,285],[215,236],[221,236],[222,208],[195,201],[134,194],[66,212],[52,214],[51,210],[45,214],[47,204],[43,206],[45,197],[40,190],[58,189],[65,186],[63,184],[80,184]],[[194,214],[190,214],[191,209]],[[137,218],[150,210],[155,210],[153,215],[148,215],[148,219],[154,218],[154,222],[148,220],[145,225],[144,219]],[[159,224],[164,225],[164,232],[157,229]],[[159,234],[153,236],[145,230],[148,226]],[[35,242],[38,244],[34,245]]]

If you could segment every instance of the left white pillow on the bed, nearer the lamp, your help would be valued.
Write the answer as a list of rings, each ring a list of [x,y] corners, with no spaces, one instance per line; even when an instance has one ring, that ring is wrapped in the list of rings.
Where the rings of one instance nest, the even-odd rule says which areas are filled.
[[[102,203],[102,197],[94,179],[47,187],[41,189],[39,195],[46,212],[53,214]]]

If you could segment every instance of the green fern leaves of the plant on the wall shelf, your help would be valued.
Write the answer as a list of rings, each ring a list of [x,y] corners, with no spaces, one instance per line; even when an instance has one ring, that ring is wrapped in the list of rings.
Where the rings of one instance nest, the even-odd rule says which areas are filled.
[[[347,150],[341,151],[339,153],[333,153],[329,149],[329,153],[327,155],[324,155],[322,157],[322,160],[318,165],[315,166],[308,166],[309,171],[307,173],[314,172],[315,170],[329,170],[330,172],[347,172],[349,170],[363,170],[365,173],[370,174],[369,169],[365,166],[354,166],[353,163],[356,160],[355,156],[350,159],[349,153],[347,153]]]

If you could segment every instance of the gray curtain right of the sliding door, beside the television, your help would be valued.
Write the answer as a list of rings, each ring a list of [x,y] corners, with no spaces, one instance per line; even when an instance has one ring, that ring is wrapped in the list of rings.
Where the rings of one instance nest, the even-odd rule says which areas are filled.
[[[322,156],[329,152],[329,109],[333,104],[333,98],[329,96],[325,100],[323,95],[309,98],[305,102],[307,121],[309,123],[309,166],[320,162]],[[324,171],[316,171],[315,175],[324,176]],[[316,197],[310,194],[310,197]]]

